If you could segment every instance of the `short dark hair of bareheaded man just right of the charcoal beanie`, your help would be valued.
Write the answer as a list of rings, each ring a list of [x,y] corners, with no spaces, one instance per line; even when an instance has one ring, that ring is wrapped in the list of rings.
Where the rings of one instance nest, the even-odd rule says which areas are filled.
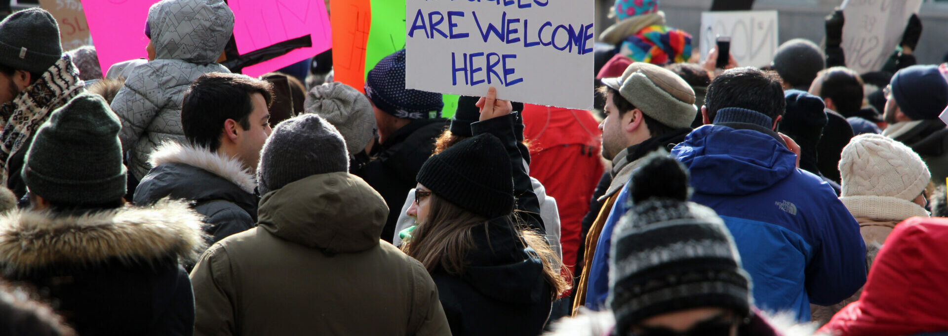
[[[820,71],[822,79],[820,98],[829,98],[836,105],[836,112],[843,117],[852,117],[863,108],[863,79],[856,71],[844,66],[833,66]]]

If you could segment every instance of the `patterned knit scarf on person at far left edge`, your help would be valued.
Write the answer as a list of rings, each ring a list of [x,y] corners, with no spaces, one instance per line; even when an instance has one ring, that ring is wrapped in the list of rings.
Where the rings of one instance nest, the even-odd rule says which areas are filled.
[[[9,159],[20,151],[40,125],[49,119],[49,113],[63,106],[84,90],[79,70],[72,58],[63,54],[46,69],[36,83],[27,86],[13,101],[0,105],[0,176],[6,184],[9,177]]]

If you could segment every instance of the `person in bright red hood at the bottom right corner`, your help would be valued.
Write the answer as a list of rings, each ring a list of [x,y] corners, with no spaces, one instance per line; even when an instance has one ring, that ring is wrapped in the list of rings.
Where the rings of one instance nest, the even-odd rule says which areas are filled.
[[[833,315],[819,332],[836,336],[948,334],[945,255],[948,219],[906,219],[885,240],[859,301]]]

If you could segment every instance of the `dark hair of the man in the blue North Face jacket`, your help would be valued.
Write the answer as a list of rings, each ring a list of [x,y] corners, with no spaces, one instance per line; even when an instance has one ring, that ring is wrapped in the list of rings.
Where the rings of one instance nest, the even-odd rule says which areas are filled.
[[[738,67],[724,71],[708,85],[704,96],[708,119],[714,121],[718,110],[740,107],[754,110],[772,119],[782,116],[787,108],[783,84],[774,71],[755,67]]]

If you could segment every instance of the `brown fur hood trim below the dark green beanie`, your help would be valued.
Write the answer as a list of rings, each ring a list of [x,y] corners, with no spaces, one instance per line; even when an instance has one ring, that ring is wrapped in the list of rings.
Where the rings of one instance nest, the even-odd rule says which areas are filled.
[[[206,245],[201,215],[187,203],[163,199],[86,215],[13,211],[0,216],[0,264],[26,273],[54,264],[122,263],[174,257],[193,262]]]

